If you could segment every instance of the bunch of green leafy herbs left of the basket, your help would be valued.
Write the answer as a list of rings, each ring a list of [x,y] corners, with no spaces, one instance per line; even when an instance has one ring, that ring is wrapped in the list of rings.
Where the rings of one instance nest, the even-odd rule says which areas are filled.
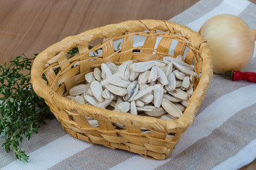
[[[11,149],[18,159],[28,162],[28,156],[21,147],[23,137],[31,138],[33,132],[44,123],[45,118],[53,118],[53,113],[32,89],[31,67],[33,58],[15,57],[7,65],[0,66],[0,135],[4,133],[6,152]]]

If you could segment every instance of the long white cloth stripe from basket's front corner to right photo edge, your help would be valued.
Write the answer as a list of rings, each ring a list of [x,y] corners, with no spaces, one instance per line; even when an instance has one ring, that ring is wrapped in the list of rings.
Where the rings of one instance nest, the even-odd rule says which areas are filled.
[[[134,156],[127,159],[125,162],[112,167],[114,169],[155,169],[162,164],[169,162],[171,158],[176,157],[185,149],[193,145],[203,137],[210,135],[213,130],[225,123],[228,118],[241,111],[247,106],[256,103],[256,84],[242,87],[238,90],[221,96],[216,101],[210,104],[208,108],[201,112],[194,123],[183,133],[181,140],[176,145],[174,151],[169,156],[169,159],[163,161],[149,160],[143,157]],[[245,96],[242,98],[241,96]]]

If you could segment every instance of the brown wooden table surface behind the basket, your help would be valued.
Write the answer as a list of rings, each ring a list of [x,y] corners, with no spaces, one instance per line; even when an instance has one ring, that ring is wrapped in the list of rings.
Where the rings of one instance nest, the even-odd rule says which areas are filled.
[[[0,64],[69,35],[136,19],[168,20],[198,0],[0,0]],[[251,0],[256,4],[256,0]],[[256,169],[256,161],[242,169]]]

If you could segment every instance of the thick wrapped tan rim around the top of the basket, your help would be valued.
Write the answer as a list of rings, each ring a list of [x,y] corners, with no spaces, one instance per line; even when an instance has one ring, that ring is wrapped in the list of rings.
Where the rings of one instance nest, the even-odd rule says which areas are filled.
[[[151,23],[156,23],[156,26]],[[112,33],[108,33],[105,30],[112,30]],[[43,68],[51,57],[60,52],[59,47],[61,47],[63,50],[70,50],[76,45],[86,45],[87,42],[90,42],[96,38],[112,38],[113,33],[125,33],[127,31],[132,32],[139,30],[169,30],[171,33],[179,33],[183,37],[191,40],[193,47],[201,49],[201,55],[203,58],[201,78],[198,82],[197,88],[193,92],[189,106],[178,120],[161,120],[151,117],[145,118],[139,115],[131,115],[117,111],[109,111],[103,108],[95,108],[95,106],[82,105],[58,95],[55,91],[51,90],[46,84],[46,81],[43,80]],[[78,35],[64,38],[60,42],[51,45],[46,50],[43,50],[43,52],[40,52],[34,60],[31,69],[31,83],[33,84],[33,90],[36,92],[36,94],[38,94],[38,96],[41,96],[46,101],[50,101],[56,105],[58,105],[58,103],[65,103],[65,109],[69,111],[77,111],[78,113],[91,116],[92,118],[97,115],[97,118],[101,118],[102,120],[111,118],[112,120],[118,121],[119,119],[122,119],[126,120],[127,123],[131,125],[145,125],[145,123],[149,124],[150,122],[157,122],[160,129],[163,129],[163,131],[165,129],[169,132],[174,128],[179,128],[181,131],[184,131],[189,125],[191,125],[191,123],[193,123],[193,119],[196,116],[198,108],[201,106],[201,102],[206,96],[206,91],[208,90],[208,84],[210,84],[212,75],[213,64],[211,62],[210,49],[206,40],[201,38],[201,35],[191,30],[191,28],[170,21],[140,20],[125,21],[122,23],[102,26],[100,28],[94,28]]]

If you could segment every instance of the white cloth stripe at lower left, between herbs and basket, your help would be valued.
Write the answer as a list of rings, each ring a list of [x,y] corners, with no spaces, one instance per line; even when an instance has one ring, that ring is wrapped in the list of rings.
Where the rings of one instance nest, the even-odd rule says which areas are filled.
[[[28,154],[30,156],[28,163],[26,163],[25,161],[21,162],[19,160],[16,160],[11,164],[4,166],[3,168],[1,168],[1,170],[49,169],[55,164],[58,164],[58,162],[61,162],[64,159],[67,159],[68,157],[71,157],[74,154],[90,146],[92,146],[92,144],[88,142],[77,140],[70,135],[64,135],[63,137],[60,137],[57,140],[48,143],[48,145],[37,149],[35,152]]]

